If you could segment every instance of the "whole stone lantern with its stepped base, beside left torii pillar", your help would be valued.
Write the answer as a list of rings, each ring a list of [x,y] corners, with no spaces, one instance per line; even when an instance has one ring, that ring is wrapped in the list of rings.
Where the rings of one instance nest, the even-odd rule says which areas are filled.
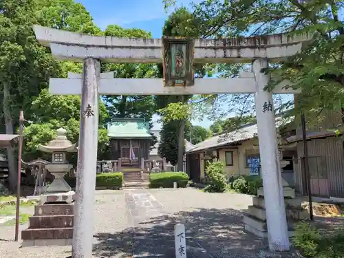
[[[45,153],[52,153],[52,162],[45,169],[55,176],[54,181],[41,194],[41,204],[34,207],[29,218],[29,228],[21,231],[23,246],[69,246],[74,227],[74,191],[63,176],[72,165],[67,163],[66,153],[78,149],[65,136],[66,130],[57,130],[57,137],[46,146],[39,145]]]

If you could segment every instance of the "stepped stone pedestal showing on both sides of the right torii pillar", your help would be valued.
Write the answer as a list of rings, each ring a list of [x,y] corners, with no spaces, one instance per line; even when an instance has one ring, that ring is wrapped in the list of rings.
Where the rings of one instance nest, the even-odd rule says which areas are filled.
[[[264,197],[253,197],[253,205],[248,206],[248,215],[244,216],[245,230],[259,237],[268,237]],[[288,235],[294,236],[292,223],[308,217],[308,211],[302,208],[301,200],[285,199]]]

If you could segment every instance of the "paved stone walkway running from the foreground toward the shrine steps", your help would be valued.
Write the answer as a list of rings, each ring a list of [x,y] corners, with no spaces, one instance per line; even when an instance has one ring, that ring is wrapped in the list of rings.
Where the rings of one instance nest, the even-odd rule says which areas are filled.
[[[157,227],[150,222],[166,214],[164,205],[146,189],[127,190],[124,194],[132,226],[133,257],[175,257],[171,227],[166,224]],[[186,242],[188,257],[213,258],[191,237],[190,231]]]

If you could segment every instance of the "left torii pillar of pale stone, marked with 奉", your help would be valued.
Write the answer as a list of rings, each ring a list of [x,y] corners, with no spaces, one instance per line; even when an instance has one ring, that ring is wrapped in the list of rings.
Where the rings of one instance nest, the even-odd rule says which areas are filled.
[[[73,258],[92,257],[94,230],[94,196],[98,149],[98,90],[100,61],[83,61],[83,86],[80,108],[80,134],[76,195],[74,204]]]

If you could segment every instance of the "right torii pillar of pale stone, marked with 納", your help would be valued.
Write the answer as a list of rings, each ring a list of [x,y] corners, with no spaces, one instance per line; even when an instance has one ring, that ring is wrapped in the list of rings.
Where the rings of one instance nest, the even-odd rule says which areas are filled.
[[[283,252],[290,250],[290,246],[272,92],[264,90],[270,79],[268,59],[255,59],[252,72],[256,83],[255,105],[269,248]]]

